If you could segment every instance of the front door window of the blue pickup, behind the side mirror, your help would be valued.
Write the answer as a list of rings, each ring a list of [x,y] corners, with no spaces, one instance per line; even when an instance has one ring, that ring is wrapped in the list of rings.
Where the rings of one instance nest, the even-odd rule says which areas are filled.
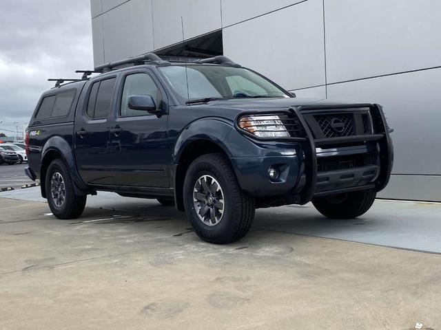
[[[154,99],[156,109],[161,107],[163,97],[161,91],[148,74],[130,74],[125,77],[123,96],[121,97],[121,117],[134,117],[137,115],[147,115],[141,110],[129,109],[129,96],[131,95],[150,95]]]

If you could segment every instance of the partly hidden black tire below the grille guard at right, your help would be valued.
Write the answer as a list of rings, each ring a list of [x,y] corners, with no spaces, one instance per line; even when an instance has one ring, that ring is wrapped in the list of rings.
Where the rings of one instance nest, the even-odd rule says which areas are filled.
[[[354,191],[313,199],[312,203],[325,217],[331,219],[353,219],[365,214],[375,201],[375,191]]]

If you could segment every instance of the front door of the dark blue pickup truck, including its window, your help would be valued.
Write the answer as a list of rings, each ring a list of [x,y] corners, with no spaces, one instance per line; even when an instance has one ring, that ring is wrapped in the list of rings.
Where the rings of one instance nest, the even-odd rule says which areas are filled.
[[[128,107],[129,96],[150,95],[161,115]],[[110,128],[112,174],[117,186],[169,188],[172,146],[167,140],[166,96],[148,69],[125,74]]]

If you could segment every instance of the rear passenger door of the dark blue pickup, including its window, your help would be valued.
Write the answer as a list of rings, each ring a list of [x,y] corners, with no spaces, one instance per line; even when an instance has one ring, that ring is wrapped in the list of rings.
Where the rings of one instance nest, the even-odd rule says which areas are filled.
[[[116,76],[93,81],[76,111],[76,166],[88,184],[112,184],[109,122],[115,104],[115,86]]]

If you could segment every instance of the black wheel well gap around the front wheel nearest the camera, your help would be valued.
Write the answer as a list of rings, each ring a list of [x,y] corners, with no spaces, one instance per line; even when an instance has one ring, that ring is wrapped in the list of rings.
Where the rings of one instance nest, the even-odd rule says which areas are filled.
[[[180,211],[185,210],[183,199],[185,173],[187,173],[194,159],[207,153],[223,153],[227,156],[223,148],[218,146],[218,144],[209,140],[197,140],[186,146],[183,153],[181,153],[181,157],[179,157],[178,167],[175,173],[174,190],[176,195],[176,208]]]

